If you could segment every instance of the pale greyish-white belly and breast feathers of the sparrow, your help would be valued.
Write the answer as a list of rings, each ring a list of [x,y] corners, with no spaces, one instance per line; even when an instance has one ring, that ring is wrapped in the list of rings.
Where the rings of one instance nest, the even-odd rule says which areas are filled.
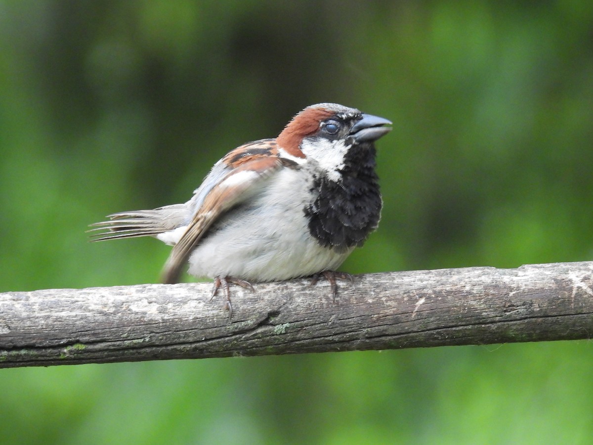
[[[277,199],[262,193],[248,208],[232,211],[193,251],[189,274],[279,281],[335,270],[342,264],[353,247],[337,252],[320,246],[309,233],[303,211],[310,199],[308,187],[299,184],[298,177],[279,180],[286,190],[297,191]]]

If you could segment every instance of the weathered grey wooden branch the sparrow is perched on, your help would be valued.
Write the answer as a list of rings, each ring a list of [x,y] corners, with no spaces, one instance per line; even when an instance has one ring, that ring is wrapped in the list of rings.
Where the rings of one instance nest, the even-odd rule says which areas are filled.
[[[0,294],[0,367],[590,338],[593,262]]]

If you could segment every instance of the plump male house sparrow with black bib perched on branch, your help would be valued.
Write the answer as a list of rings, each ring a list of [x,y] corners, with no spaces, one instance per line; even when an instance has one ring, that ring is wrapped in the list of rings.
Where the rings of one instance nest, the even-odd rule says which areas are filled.
[[[247,142],[213,167],[185,204],[108,215],[93,241],[154,236],[173,247],[162,281],[189,274],[229,283],[324,275],[335,300],[334,272],[377,228],[381,195],[374,141],[391,122],[334,103],[294,116],[276,139]]]

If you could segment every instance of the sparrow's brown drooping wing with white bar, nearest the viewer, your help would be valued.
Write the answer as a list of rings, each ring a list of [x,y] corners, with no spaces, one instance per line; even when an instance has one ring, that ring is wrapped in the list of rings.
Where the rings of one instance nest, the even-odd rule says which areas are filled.
[[[214,221],[239,202],[253,196],[264,180],[286,164],[282,158],[269,155],[252,155],[249,160],[244,159],[241,163],[235,161],[235,168],[212,187],[187,230],[171,250],[162,273],[165,284],[179,281],[181,268]]]

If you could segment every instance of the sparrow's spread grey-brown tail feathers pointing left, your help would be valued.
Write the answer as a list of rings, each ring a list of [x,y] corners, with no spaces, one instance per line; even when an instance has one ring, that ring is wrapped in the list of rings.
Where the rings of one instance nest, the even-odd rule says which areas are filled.
[[[158,236],[187,224],[189,211],[185,204],[174,204],[154,210],[136,210],[107,215],[109,221],[95,222],[91,241],[119,240],[141,236]]]

